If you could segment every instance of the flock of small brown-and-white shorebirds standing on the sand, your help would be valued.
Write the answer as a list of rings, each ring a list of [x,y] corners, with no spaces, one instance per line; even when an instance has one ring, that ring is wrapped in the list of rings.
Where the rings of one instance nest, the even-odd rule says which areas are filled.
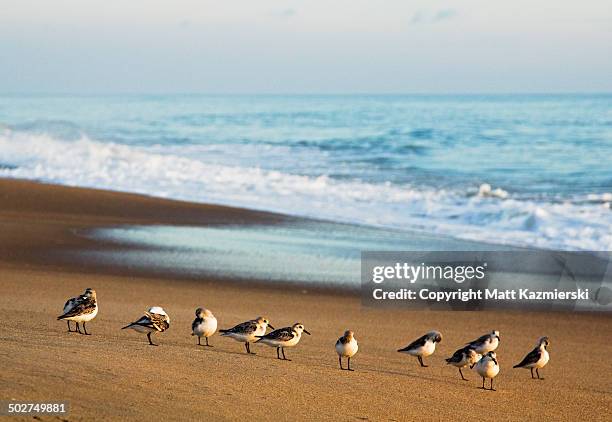
[[[67,322],[69,332],[73,332],[70,327],[70,321],[74,321],[76,323],[74,332],[89,335],[85,328],[85,323],[94,319],[97,314],[98,301],[96,298],[96,291],[88,288],[82,295],[68,299],[64,304],[62,315],[58,316],[57,319]],[[195,315],[196,318],[191,324],[191,335],[198,337],[198,345],[212,347],[208,339],[217,332],[217,318],[215,318],[210,310],[205,308],[196,309]],[[81,332],[80,323],[83,324],[83,332]],[[169,327],[170,317],[166,311],[160,306],[153,306],[139,319],[131,322],[122,329],[131,328],[139,333],[146,333],[149,344],[157,346],[157,344],[153,343],[151,334],[164,332]],[[273,331],[266,334],[268,328]],[[304,325],[299,322],[293,324],[291,327],[274,329],[268,318],[265,317],[258,317],[245,321],[232,328],[218,331],[221,336],[229,337],[244,343],[244,347],[248,354],[255,354],[251,352],[251,343],[262,343],[270,347],[275,347],[276,357],[281,360],[291,360],[287,359],[285,356],[285,348],[296,346],[302,337],[302,333],[310,335],[304,328]],[[205,344],[201,342],[202,337],[205,339]],[[399,349],[398,352],[416,357],[422,367],[427,367],[427,365],[423,363],[423,358],[431,356],[436,350],[436,344],[441,341],[442,334],[438,331],[431,331],[419,337],[408,346]],[[461,369],[467,366],[475,368],[476,372],[482,377],[481,388],[486,389],[485,380],[490,379],[491,386],[489,390],[494,391],[493,379],[499,373],[499,363],[497,362],[495,350],[499,346],[499,342],[499,331],[492,331],[489,334],[485,334],[476,340],[466,343],[465,346],[455,351],[450,358],[446,359],[446,363],[457,367],[461,379],[464,381],[467,381],[467,379],[463,376]],[[529,352],[519,364],[514,365],[514,368],[530,369],[531,378],[535,378],[533,375],[533,370],[535,369],[537,379],[543,379],[540,377],[538,369],[542,369],[548,363],[548,345],[548,337],[540,337],[536,347]],[[351,330],[345,331],[344,335],[336,342],[335,348],[338,354],[340,369],[353,371],[353,369],[351,369],[351,358],[355,356],[357,350],[359,350],[354,333]],[[346,368],[342,366],[342,358],[347,359]]]

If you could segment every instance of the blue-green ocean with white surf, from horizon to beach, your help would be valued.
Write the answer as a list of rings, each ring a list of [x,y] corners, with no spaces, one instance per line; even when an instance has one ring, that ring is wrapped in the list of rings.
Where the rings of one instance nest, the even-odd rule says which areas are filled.
[[[612,250],[612,95],[0,96],[0,177]]]

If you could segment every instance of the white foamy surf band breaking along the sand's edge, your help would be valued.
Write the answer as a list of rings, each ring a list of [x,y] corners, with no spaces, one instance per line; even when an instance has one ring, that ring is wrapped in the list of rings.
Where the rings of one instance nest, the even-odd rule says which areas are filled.
[[[0,130],[0,163],[5,164],[0,176],[425,230],[491,243],[612,249],[609,194],[582,202],[537,202],[513,198],[486,184],[473,195],[209,164],[173,148],[152,151],[86,137],[65,141],[5,128]]]

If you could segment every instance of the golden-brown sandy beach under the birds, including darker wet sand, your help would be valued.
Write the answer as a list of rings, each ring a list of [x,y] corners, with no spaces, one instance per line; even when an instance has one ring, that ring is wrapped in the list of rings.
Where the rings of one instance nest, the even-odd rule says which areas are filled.
[[[274,224],[282,215],[18,180],[0,180],[0,399],[70,402],[67,420],[609,420],[612,319],[597,314],[429,312],[369,309],[342,291],[280,288],[214,278],[134,274],[120,266],[58,261],[63,251],[113,247],[76,230],[130,224]],[[58,263],[60,262],[60,263]],[[56,321],[64,301],[86,287],[100,312],[91,336]],[[120,328],[153,305],[170,329],[159,347]],[[312,333],[276,359],[263,345],[244,353],[215,335],[212,348],[190,336],[198,306],[221,328],[259,315],[275,327],[302,322]],[[334,343],[352,329],[355,372],[340,371]],[[437,329],[443,341],[421,368],[396,352]],[[497,329],[496,392],[462,381],[444,358]],[[536,339],[551,340],[551,361],[532,380],[512,369]],[[29,418],[24,418],[29,419]],[[55,417],[43,420],[55,420]]]

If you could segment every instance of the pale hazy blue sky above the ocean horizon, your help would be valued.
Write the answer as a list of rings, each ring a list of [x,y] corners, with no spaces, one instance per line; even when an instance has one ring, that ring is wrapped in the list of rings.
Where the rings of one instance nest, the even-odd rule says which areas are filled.
[[[0,0],[0,93],[612,92],[609,0]]]

